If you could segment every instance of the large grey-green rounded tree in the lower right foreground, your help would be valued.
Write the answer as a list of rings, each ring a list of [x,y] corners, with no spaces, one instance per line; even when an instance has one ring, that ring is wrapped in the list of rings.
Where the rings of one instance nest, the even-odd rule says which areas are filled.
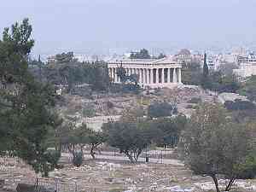
[[[224,108],[204,103],[189,120],[179,146],[190,169],[212,177],[219,192],[217,175],[230,179],[225,189],[229,191],[244,172],[251,141],[247,125],[232,122]]]

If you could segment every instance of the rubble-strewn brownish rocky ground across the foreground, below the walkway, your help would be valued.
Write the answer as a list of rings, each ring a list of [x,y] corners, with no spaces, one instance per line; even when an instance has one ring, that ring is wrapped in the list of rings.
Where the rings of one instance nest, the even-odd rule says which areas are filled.
[[[37,177],[29,166],[12,159],[4,160],[0,170],[0,179],[5,180],[4,191],[15,189],[17,183],[34,184]],[[65,162],[62,169],[50,172],[49,178],[39,178],[38,181],[44,186],[52,189],[57,187],[63,192],[214,191],[210,177],[194,175],[184,166],[131,165],[109,160],[87,160],[84,166],[79,168]],[[226,181],[219,178],[219,182],[224,185]],[[256,181],[239,180],[235,189],[236,192],[256,191]]]

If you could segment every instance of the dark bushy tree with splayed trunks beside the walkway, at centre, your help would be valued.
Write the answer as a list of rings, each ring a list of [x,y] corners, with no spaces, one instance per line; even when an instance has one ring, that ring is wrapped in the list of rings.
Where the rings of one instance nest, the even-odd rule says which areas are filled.
[[[141,108],[127,109],[118,122],[108,122],[102,126],[107,143],[119,148],[131,163],[137,162],[143,149],[152,143],[156,135],[148,122],[143,119]]]

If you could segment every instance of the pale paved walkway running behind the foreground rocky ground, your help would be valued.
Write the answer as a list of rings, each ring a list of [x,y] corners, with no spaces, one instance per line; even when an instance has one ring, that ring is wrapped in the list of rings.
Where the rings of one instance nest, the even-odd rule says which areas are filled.
[[[62,153],[61,156],[70,157],[71,154]],[[84,154],[84,158],[91,159],[91,156],[90,154]],[[96,159],[130,161],[126,156],[110,156],[110,155],[102,155],[102,154],[96,154]],[[145,162],[145,158],[142,158],[142,157],[138,158],[138,162]],[[172,166],[184,166],[180,160],[172,160],[172,159],[149,158],[149,163],[166,164],[166,165],[172,165]]]

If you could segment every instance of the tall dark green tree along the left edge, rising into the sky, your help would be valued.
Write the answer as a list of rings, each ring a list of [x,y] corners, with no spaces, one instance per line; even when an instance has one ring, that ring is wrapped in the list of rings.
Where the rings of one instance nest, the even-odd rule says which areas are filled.
[[[0,131],[1,149],[12,151],[36,172],[47,172],[47,136],[55,127],[55,91],[37,82],[28,71],[28,56],[34,40],[27,19],[3,32],[0,41]],[[4,130],[3,130],[4,128]],[[2,134],[1,134],[2,136]],[[45,171],[46,170],[46,171]]]

